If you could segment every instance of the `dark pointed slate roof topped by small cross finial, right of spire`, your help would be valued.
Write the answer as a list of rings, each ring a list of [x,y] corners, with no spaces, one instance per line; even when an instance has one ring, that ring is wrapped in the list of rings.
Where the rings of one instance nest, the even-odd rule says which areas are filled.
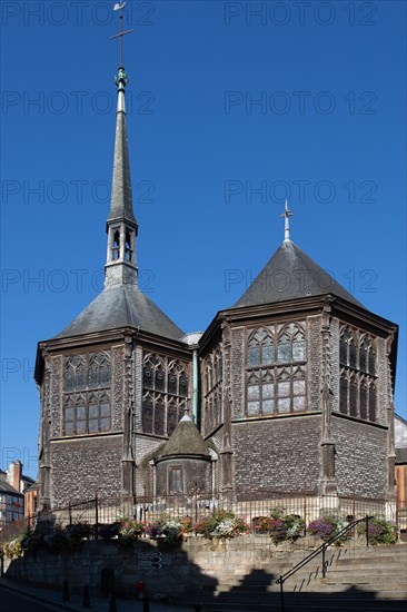
[[[275,304],[327,294],[365,308],[304,250],[291,240],[285,240],[232,307]]]

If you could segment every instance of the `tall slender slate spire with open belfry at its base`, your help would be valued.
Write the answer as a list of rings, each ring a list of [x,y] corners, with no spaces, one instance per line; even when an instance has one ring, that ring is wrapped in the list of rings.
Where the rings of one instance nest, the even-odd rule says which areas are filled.
[[[132,209],[129,149],[127,144],[125,88],[128,82],[120,66],[116,77],[118,102],[111,206],[107,220],[108,253],[105,286],[137,285],[136,236],[138,226]]]

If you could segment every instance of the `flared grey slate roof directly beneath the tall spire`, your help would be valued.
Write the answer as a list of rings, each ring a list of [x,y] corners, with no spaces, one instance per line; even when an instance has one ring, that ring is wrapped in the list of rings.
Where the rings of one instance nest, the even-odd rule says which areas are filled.
[[[136,285],[118,285],[99,294],[56,338],[120,327],[139,327],[171,339],[180,339],[185,335]]]

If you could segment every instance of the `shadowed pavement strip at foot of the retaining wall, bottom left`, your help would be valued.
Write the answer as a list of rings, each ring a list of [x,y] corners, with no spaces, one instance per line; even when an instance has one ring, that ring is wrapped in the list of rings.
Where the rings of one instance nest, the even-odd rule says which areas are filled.
[[[185,605],[175,605],[169,603],[161,603],[149,601],[146,605],[143,601],[136,600],[122,600],[116,598],[116,608],[109,603],[108,598],[93,598],[90,596],[90,608],[83,605],[83,595],[78,593],[70,593],[69,601],[62,600],[62,591],[50,591],[48,589],[41,589],[12,581],[7,578],[0,579],[0,588],[13,591],[14,593],[22,594],[30,598],[30,600],[40,602],[44,605],[44,610],[66,610],[78,611],[89,609],[92,612],[195,612],[195,608]],[[46,608],[47,606],[47,608]]]

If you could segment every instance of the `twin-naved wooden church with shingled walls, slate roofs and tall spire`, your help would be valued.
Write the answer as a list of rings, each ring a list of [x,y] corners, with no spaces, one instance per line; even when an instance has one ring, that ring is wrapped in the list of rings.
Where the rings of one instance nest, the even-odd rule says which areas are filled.
[[[290,239],[286,205],[284,241],[240,299],[182,332],[138,287],[123,68],[116,82],[105,288],[38,345],[39,507],[197,483],[391,499],[397,325]]]

